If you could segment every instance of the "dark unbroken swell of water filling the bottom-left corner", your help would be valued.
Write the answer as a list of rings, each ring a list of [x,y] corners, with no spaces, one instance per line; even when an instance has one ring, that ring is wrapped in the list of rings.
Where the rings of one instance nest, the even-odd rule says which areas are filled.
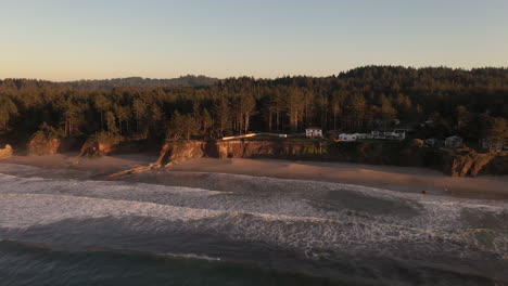
[[[2,285],[358,285],[191,253],[0,242]]]

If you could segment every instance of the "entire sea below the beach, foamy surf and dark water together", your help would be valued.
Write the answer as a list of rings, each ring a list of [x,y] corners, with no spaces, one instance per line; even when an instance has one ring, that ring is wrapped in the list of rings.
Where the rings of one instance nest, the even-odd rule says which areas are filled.
[[[165,174],[167,186],[0,172],[17,174],[0,173],[0,285],[508,285],[505,202],[215,173]]]

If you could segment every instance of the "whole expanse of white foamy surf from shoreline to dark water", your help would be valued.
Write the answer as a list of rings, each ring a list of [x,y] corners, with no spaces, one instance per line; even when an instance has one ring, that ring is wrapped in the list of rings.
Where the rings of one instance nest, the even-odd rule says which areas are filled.
[[[309,257],[317,253],[322,257],[327,251],[338,249],[376,248],[399,252],[401,244],[411,244],[411,249],[420,250],[415,253],[426,253],[439,247],[437,240],[448,248],[443,251],[481,249],[500,256],[508,253],[508,231],[503,223],[508,207],[503,202],[245,176],[231,176],[230,180],[264,183],[267,190],[259,194],[225,193],[181,186],[0,174],[0,227],[26,229],[66,219],[145,217],[168,224],[185,222],[183,227],[188,231],[214,232],[237,240],[297,248]],[[304,191],[296,192],[295,185]],[[330,192],[338,196],[327,196]],[[351,204],[359,195],[371,209],[358,209]],[[330,207],[330,203],[336,204]],[[380,208],[380,205],[384,207]],[[393,208],[396,211],[392,211]],[[468,225],[465,211],[479,218],[488,217],[494,226]],[[399,217],[398,212],[407,216]],[[490,235],[486,244],[482,238],[485,233]]]

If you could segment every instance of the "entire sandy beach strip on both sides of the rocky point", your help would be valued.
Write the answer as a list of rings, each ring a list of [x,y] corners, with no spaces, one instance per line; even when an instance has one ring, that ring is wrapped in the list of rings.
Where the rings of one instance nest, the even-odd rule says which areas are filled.
[[[50,156],[14,156],[0,164],[27,165],[45,169],[71,169],[88,172],[93,179],[118,171],[148,166],[156,157],[150,154],[77,158],[77,154]],[[508,199],[508,177],[450,178],[439,171],[423,168],[396,166],[371,166],[347,162],[290,161],[269,159],[212,159],[201,158],[181,161],[157,171],[165,172],[215,172],[296,179],[308,181],[338,182],[398,192],[452,195],[456,197]],[[130,176],[128,180],[142,180]],[[117,180],[122,180],[118,178]],[[142,180],[150,182],[150,180]],[[157,183],[164,180],[157,180]]]

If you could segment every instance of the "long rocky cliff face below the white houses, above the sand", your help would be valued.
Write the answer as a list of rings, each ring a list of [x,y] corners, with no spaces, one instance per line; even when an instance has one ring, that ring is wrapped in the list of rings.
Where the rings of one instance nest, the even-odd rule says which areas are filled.
[[[280,158],[427,167],[454,177],[508,174],[508,153],[426,147],[422,142],[179,141],[166,143],[156,165],[192,158]]]

